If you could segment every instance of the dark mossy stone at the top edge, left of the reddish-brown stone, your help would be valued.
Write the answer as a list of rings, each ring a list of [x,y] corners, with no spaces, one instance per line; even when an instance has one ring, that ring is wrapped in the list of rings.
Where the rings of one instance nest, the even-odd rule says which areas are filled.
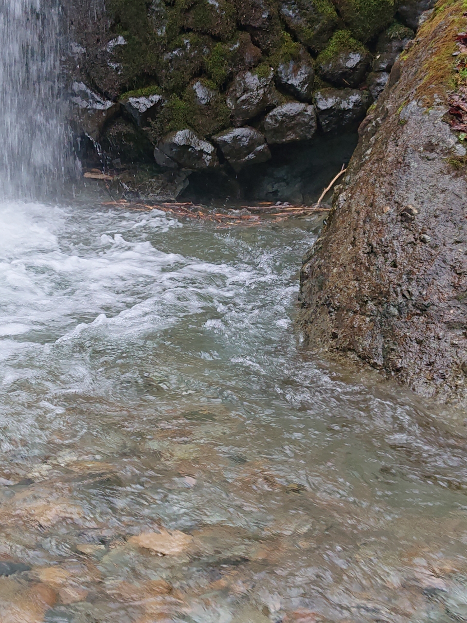
[[[182,26],[218,39],[230,39],[237,26],[235,7],[227,0],[197,0],[184,14]]]

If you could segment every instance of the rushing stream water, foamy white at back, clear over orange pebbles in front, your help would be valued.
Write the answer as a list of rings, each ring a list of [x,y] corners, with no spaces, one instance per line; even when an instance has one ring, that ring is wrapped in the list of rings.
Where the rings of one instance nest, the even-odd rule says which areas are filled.
[[[465,620],[463,414],[304,350],[311,223],[0,219],[2,623]]]

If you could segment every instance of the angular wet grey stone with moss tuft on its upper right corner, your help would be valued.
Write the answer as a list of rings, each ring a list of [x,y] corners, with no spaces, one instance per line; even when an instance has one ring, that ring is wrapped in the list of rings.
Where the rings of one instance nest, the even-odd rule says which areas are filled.
[[[227,93],[227,106],[238,125],[278,103],[271,70],[267,77],[240,72]]]

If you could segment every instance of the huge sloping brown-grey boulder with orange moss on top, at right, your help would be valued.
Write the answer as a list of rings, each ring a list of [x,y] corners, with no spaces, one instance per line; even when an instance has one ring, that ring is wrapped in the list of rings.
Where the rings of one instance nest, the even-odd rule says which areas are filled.
[[[436,7],[394,65],[301,272],[311,345],[440,401],[467,392],[466,150],[446,120],[462,13]]]

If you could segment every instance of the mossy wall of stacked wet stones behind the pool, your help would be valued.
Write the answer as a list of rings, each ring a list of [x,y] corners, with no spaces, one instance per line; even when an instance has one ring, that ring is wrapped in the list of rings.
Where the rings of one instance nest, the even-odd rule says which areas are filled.
[[[235,178],[361,121],[429,2],[66,0],[75,148]]]

